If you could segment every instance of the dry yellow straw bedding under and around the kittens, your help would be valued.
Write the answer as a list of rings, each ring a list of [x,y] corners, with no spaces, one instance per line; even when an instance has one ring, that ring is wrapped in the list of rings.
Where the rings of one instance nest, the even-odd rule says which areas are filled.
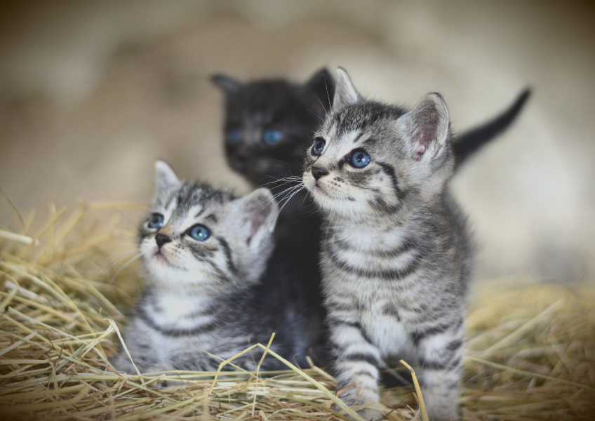
[[[0,231],[0,419],[348,419],[345,410],[335,411],[333,377],[314,366],[287,362],[287,371],[266,376],[234,371],[218,377],[122,375],[112,368],[109,356],[121,346],[117,327],[126,321],[122,311],[138,292],[136,271],[120,270],[134,256],[134,233],[119,219],[140,208],[81,203],[70,212],[51,208],[41,223],[29,215],[22,221],[27,236]],[[591,288],[477,283],[467,348],[464,420],[595,419]],[[184,381],[154,387],[163,379]],[[426,418],[418,397],[414,386],[385,389],[387,419]]]

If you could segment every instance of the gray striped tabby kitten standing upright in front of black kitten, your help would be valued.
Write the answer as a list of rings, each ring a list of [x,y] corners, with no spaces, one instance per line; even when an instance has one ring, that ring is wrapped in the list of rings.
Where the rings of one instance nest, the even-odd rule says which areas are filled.
[[[321,270],[340,397],[379,401],[377,366],[402,358],[417,366],[430,420],[458,420],[472,246],[448,189],[448,110],[437,93],[408,112],[364,100],[338,75],[303,181],[326,218]]]

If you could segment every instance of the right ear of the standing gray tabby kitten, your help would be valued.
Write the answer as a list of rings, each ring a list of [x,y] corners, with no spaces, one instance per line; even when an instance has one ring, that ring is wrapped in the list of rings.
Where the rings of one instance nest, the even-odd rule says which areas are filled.
[[[450,135],[448,108],[439,93],[429,93],[397,121],[410,139],[415,159],[420,161],[428,152],[435,156]]]

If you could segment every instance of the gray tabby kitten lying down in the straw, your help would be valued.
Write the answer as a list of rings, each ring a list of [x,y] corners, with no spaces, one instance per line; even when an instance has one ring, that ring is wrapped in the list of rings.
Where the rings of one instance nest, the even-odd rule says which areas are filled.
[[[266,344],[272,333],[274,352],[305,364],[312,332],[321,328],[292,275],[283,267],[267,272],[278,212],[269,190],[236,199],[181,182],[163,161],[156,171],[156,193],[138,234],[147,287],[124,335],[139,370],[216,370],[220,360],[205,352],[227,359]],[[234,363],[253,370],[260,356],[255,349]],[[114,366],[135,372],[123,351]],[[261,367],[286,369],[273,357]]]

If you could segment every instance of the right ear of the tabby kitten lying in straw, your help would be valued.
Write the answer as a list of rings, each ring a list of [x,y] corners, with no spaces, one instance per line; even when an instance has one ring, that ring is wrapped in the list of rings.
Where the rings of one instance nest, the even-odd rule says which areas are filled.
[[[248,247],[258,248],[262,240],[273,232],[279,206],[271,191],[265,187],[255,189],[237,200],[243,207],[243,218],[249,226],[246,238]]]

